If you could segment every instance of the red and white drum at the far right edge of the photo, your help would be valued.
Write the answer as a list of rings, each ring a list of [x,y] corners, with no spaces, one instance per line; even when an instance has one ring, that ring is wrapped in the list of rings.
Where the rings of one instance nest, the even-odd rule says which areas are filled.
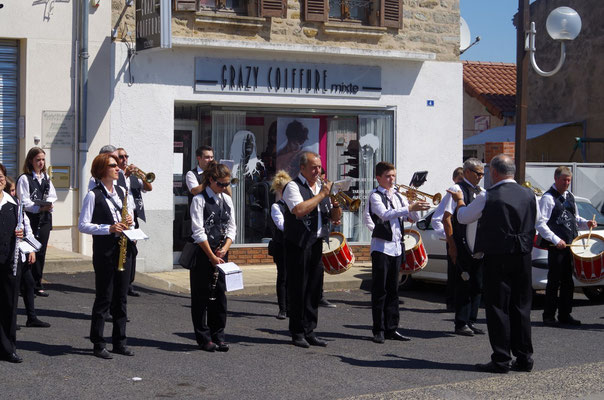
[[[579,235],[570,251],[575,262],[575,277],[583,283],[604,279],[604,237],[596,234]]]

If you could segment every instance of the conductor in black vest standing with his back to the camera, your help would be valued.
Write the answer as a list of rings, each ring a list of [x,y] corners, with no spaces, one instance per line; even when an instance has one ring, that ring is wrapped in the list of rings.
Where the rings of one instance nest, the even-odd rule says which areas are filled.
[[[535,194],[514,181],[514,160],[499,154],[491,160],[493,186],[466,206],[463,193],[453,192],[457,219],[478,221],[476,251],[484,253],[484,300],[491,361],[476,364],[482,372],[507,373],[533,369],[531,341],[531,250],[539,210]]]

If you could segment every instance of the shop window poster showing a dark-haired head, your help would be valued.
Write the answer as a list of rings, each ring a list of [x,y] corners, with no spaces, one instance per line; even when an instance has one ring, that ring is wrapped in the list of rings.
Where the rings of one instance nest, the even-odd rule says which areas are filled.
[[[300,172],[300,155],[319,153],[318,118],[277,119],[277,171],[283,169],[295,178]]]

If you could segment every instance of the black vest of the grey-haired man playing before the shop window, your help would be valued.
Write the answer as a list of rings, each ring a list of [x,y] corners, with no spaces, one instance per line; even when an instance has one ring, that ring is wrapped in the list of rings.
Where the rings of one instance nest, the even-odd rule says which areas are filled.
[[[300,177],[296,177],[293,181],[287,185],[298,185],[300,194],[304,201],[310,200],[314,197],[310,187],[303,184]],[[287,185],[285,186],[287,188]],[[285,190],[284,190],[285,192]],[[329,236],[329,211],[330,211],[330,200],[329,197],[324,198],[319,203],[319,209],[321,210],[321,238]],[[319,211],[315,208],[310,213],[306,214],[302,218],[297,218],[290,210],[289,207],[285,207],[285,223],[284,223],[284,237],[285,240],[301,248],[308,248],[312,246],[319,237],[317,236],[317,228],[319,226]]]

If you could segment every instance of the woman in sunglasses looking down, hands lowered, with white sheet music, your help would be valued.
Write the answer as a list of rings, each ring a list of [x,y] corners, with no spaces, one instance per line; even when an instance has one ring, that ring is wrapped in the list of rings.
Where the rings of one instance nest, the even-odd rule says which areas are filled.
[[[190,271],[191,317],[195,339],[202,350],[228,351],[224,341],[226,326],[226,286],[224,275],[215,275],[217,264],[228,261],[236,226],[231,197],[231,171],[211,161],[203,172],[203,190],[191,202],[192,239],[201,251]]]

